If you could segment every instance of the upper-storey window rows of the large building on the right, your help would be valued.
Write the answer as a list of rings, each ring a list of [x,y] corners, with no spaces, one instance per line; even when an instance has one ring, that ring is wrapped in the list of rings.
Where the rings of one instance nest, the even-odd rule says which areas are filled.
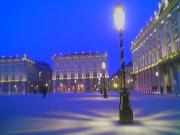
[[[156,63],[160,58],[180,50],[178,11],[167,15],[144,41],[133,50],[134,71]],[[156,50],[156,51],[153,51]]]

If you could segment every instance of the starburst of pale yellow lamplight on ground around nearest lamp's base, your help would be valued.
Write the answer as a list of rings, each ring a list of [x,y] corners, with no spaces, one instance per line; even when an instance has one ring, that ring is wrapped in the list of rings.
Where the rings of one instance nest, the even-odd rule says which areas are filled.
[[[92,111],[95,113],[96,111]],[[117,113],[96,112],[97,116],[77,114],[70,112],[51,112],[49,117],[25,117],[16,120],[16,128],[8,127],[11,130],[7,134],[26,134],[59,132],[59,134],[133,134],[133,135],[161,135],[164,133],[180,134],[180,120],[162,119],[165,117],[180,115],[180,112],[163,112],[150,116],[138,117],[140,110],[135,110],[135,122],[129,125],[117,122]],[[69,118],[67,118],[69,117]],[[18,128],[17,128],[18,127]]]

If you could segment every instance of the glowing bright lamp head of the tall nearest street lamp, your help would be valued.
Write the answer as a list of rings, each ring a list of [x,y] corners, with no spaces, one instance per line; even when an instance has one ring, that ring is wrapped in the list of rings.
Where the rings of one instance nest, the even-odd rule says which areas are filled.
[[[115,25],[118,31],[121,31],[124,29],[124,24],[125,24],[125,12],[123,10],[123,8],[118,5],[115,8],[114,11],[114,21],[115,21]]]

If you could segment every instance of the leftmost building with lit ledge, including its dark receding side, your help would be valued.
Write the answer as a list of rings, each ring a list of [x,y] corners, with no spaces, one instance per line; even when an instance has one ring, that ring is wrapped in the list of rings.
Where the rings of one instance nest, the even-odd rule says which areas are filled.
[[[0,94],[38,92],[39,84],[50,86],[51,74],[49,66],[35,62],[26,55],[2,57],[0,58]]]

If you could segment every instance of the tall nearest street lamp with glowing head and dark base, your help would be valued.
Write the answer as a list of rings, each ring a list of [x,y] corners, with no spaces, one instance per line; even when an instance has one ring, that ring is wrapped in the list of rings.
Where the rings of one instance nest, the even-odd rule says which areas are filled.
[[[122,69],[122,82],[123,82],[123,86],[122,86],[123,91],[120,92],[119,121],[123,123],[130,123],[133,122],[133,112],[130,104],[130,94],[126,89],[124,46],[123,46],[125,12],[120,4],[118,4],[115,8],[114,21],[116,28],[120,33],[121,69]]]

